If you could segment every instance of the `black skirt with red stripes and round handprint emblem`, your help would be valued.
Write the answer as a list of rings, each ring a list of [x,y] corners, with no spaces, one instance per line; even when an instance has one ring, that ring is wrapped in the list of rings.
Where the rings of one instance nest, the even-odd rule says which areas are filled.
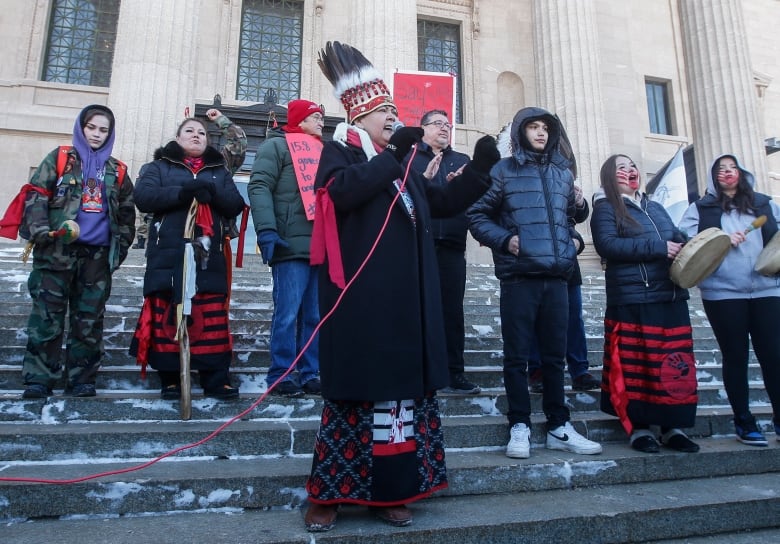
[[[629,433],[634,425],[692,427],[696,388],[686,301],[607,308],[601,393],[604,412],[620,417]]]

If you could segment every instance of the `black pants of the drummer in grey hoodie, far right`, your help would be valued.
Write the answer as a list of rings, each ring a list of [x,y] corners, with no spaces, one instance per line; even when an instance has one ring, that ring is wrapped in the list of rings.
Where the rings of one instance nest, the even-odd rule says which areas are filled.
[[[780,298],[704,300],[704,312],[712,325],[723,359],[723,385],[734,417],[750,414],[748,386],[749,344],[753,342],[764,376],[775,423],[780,423]]]

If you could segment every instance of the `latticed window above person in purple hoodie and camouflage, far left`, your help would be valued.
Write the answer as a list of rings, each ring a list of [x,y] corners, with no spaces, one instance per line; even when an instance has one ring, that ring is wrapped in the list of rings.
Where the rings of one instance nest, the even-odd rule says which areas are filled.
[[[52,2],[44,81],[108,87],[119,0]]]

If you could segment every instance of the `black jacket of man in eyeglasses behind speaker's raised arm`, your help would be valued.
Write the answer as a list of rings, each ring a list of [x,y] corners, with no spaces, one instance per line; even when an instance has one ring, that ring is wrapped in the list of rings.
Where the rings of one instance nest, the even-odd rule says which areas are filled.
[[[446,185],[447,174],[455,172],[458,168],[469,162],[469,156],[465,153],[460,153],[447,146],[442,150],[444,156],[441,159],[439,165],[439,171],[429,180],[428,183],[434,185]],[[417,144],[417,153],[412,160],[412,169],[416,172],[423,173],[428,167],[428,163],[433,160],[433,149],[425,142]],[[411,157],[411,153],[407,155],[406,161]],[[406,162],[404,162],[404,166]],[[441,244],[451,249],[457,249],[460,251],[466,251],[466,233],[468,232],[469,222],[466,219],[465,213],[459,213],[453,217],[445,217],[443,219],[434,219],[431,222],[431,229],[433,232],[433,239],[437,244]]]

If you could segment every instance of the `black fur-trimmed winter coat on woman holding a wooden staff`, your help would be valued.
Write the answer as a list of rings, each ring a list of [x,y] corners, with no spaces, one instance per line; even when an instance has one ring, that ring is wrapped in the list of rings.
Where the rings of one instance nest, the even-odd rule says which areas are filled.
[[[135,205],[144,213],[154,214],[149,227],[146,250],[144,296],[151,293],[173,292],[174,302],[181,301],[181,277],[184,258],[184,223],[190,202],[179,200],[182,186],[194,179],[207,180],[216,186],[216,194],[209,203],[214,235],[211,237],[207,268],[196,267],[198,292],[227,293],[227,263],[223,253],[228,222],[244,207],[244,198],[233,182],[233,175],[225,166],[222,154],[207,147],[203,154],[205,165],[197,174],[184,164],[184,151],[172,141],[155,151],[154,161],[141,167],[135,184]],[[195,238],[201,236],[195,227]]]

